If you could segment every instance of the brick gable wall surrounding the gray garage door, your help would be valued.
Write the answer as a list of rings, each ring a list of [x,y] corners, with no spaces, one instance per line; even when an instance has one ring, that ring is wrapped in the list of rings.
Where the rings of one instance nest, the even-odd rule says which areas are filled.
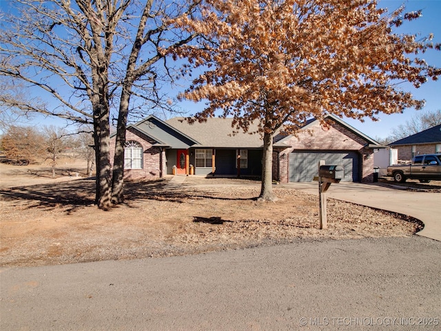
[[[273,178],[281,183],[289,181],[289,154],[294,150],[359,152],[362,182],[373,181],[373,150],[364,147],[368,142],[334,121],[329,121],[329,129],[322,128],[316,121],[309,129],[298,132],[297,137],[292,137],[286,143],[292,147],[283,150],[275,149],[276,152],[273,154]],[[277,164],[277,157],[279,164]]]

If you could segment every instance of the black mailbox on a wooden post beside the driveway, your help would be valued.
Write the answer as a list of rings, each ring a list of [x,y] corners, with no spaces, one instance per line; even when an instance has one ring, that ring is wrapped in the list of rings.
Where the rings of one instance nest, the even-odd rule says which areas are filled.
[[[324,160],[318,162],[318,203],[320,209],[320,229],[326,229],[327,224],[327,203],[326,192],[331,183],[339,183],[345,176],[341,165],[325,165]]]

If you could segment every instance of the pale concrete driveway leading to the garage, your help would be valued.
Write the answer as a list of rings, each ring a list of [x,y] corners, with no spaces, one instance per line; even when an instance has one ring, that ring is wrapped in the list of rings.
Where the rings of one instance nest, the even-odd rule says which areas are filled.
[[[318,194],[317,182],[283,186]],[[441,241],[440,192],[411,191],[382,183],[338,183],[331,184],[327,197],[415,217],[424,223],[419,235]]]

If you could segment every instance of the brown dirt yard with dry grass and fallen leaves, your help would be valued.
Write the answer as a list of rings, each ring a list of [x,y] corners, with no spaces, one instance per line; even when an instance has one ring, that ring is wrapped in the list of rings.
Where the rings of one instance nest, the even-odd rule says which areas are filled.
[[[256,201],[260,182],[187,177],[170,185],[126,183],[124,204],[93,205],[85,165],[0,164],[0,265],[52,265],[197,254],[293,241],[404,237],[422,224],[398,214],[328,200],[318,229],[318,197],[280,188],[275,203]]]

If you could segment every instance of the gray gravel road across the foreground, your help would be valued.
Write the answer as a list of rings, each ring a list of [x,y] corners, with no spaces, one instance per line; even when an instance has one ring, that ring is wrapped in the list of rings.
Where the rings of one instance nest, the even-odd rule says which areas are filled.
[[[440,330],[441,242],[304,240],[1,269],[6,330]]]

